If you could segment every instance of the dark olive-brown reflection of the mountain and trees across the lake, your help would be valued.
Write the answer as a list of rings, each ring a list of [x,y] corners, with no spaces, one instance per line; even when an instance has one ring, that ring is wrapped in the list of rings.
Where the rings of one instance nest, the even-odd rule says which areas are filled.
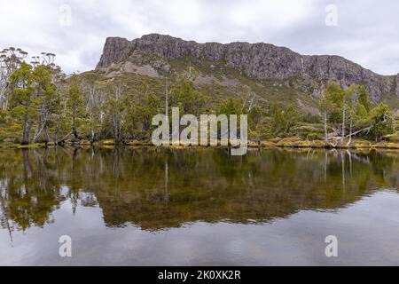
[[[337,209],[398,188],[399,154],[212,149],[0,152],[2,226],[53,222],[62,201],[99,206],[106,225],[156,230],[186,222],[267,222],[300,209]],[[74,210],[73,209],[73,210]]]

